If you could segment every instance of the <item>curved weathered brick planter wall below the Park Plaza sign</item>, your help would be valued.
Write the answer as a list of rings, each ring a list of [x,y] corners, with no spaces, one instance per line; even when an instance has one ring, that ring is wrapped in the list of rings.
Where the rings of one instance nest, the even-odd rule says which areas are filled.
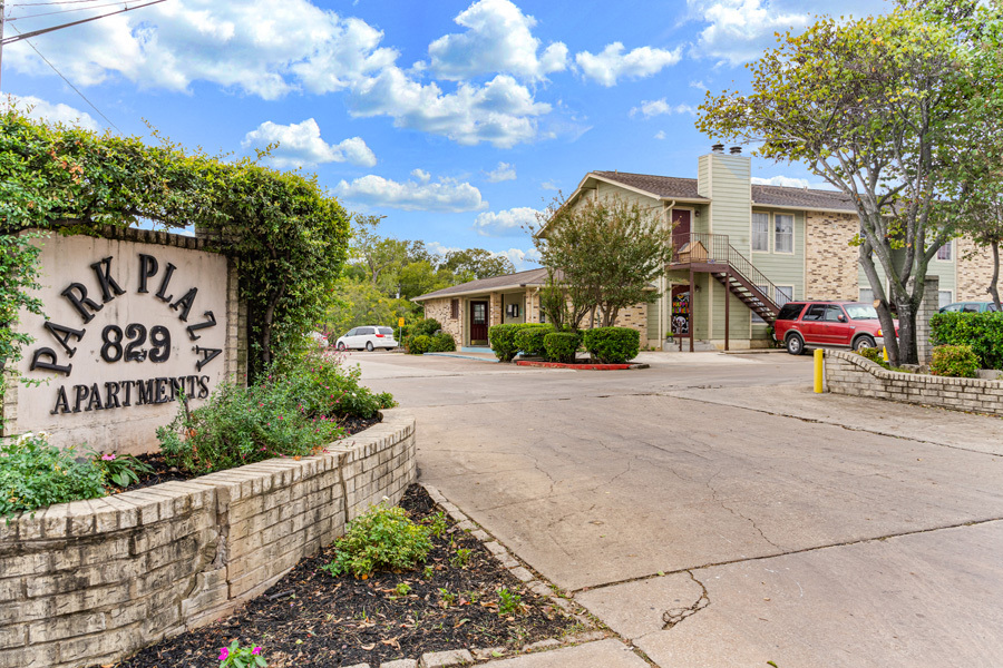
[[[0,521],[0,668],[111,664],[231,613],[417,477],[415,420],[323,454]]]

